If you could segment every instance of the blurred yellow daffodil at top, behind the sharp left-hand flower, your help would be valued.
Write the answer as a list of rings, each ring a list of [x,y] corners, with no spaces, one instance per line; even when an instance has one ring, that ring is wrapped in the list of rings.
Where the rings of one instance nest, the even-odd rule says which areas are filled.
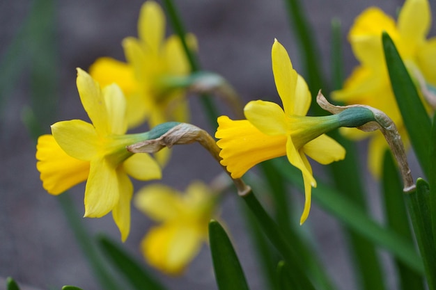
[[[171,79],[189,74],[189,63],[176,35],[164,39],[165,16],[155,1],[141,8],[137,38],[125,38],[127,63],[99,58],[90,74],[102,86],[118,83],[127,98],[127,124],[137,127],[148,120],[150,127],[167,121],[188,121],[184,92],[174,89]],[[187,36],[195,46],[192,35]]]

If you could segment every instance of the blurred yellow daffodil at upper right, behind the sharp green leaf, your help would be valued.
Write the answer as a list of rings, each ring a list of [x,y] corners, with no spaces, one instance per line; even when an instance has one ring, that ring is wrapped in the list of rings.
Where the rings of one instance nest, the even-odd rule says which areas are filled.
[[[384,61],[382,32],[394,41],[412,78],[423,76],[426,83],[436,85],[436,38],[426,40],[431,15],[427,0],[406,0],[398,15],[398,22],[380,8],[364,10],[350,29],[348,40],[360,65],[345,81],[342,90],[332,93],[333,99],[346,104],[364,104],[378,108],[394,120],[407,145],[408,136],[391,89]],[[357,129],[343,129],[343,133],[358,140],[368,134]],[[368,148],[368,167],[380,176],[387,143],[380,132],[374,132]]]

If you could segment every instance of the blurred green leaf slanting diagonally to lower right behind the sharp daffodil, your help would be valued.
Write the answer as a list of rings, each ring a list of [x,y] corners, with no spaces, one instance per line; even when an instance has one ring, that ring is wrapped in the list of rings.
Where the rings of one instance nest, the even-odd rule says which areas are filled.
[[[304,192],[302,175],[297,168],[290,166],[283,159],[275,159],[274,163],[283,177],[286,177],[300,191]],[[343,225],[385,248],[417,273],[423,273],[423,264],[412,243],[405,241],[402,236],[393,230],[376,223],[361,207],[350,201],[345,194],[318,181],[318,186],[313,188],[312,198],[325,211],[341,221]]]

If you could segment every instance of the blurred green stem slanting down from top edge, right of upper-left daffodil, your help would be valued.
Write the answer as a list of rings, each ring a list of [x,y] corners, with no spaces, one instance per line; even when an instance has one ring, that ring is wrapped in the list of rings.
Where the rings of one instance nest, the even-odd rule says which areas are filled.
[[[174,5],[172,0],[164,0],[163,1],[164,6],[166,8],[166,13],[170,19],[170,22],[173,26],[174,31],[176,31],[177,35],[179,36],[183,49],[185,50],[185,54],[188,58],[189,65],[191,66],[192,72],[198,72],[201,70],[200,62],[198,61],[198,58],[194,55],[191,49],[189,49],[187,42],[186,42],[186,29],[185,26],[182,24],[182,19],[180,19],[176,6]],[[208,120],[212,128],[217,127],[217,117],[218,117],[218,111],[216,106],[213,104],[212,100],[208,95],[201,95],[200,102],[202,106],[204,107],[206,111],[206,115],[208,116]]]

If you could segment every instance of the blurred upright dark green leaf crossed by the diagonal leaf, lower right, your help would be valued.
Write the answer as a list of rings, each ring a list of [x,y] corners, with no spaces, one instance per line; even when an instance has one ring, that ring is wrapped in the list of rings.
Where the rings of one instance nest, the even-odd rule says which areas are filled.
[[[403,184],[398,175],[398,169],[391,152],[386,151],[384,153],[383,165],[382,192],[384,197],[384,212],[386,213],[389,227],[394,229],[400,236],[403,236],[405,240],[412,243],[412,234],[403,197]],[[395,259],[395,265],[400,289],[423,289],[422,275],[411,271],[410,267],[400,259]]]

